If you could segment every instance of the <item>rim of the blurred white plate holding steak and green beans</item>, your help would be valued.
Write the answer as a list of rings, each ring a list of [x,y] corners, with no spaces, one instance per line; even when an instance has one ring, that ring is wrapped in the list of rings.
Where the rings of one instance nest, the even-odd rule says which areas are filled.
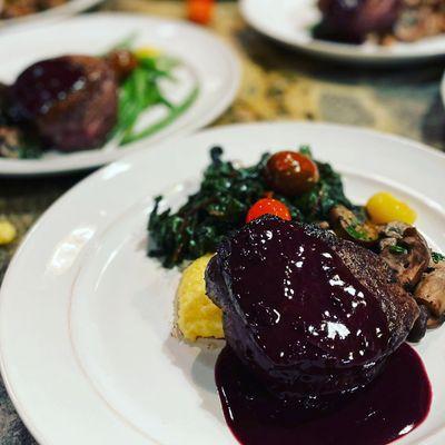
[[[63,22],[51,23],[50,27],[60,27],[67,22],[93,22],[96,20],[118,20],[119,18],[125,18],[126,20],[135,20],[138,22],[151,22],[158,24],[169,24],[179,29],[186,29],[194,32],[196,36],[199,36],[201,39],[211,40],[218,51],[222,57],[225,57],[225,61],[227,63],[228,71],[230,72],[226,79],[226,86],[222,98],[216,102],[211,108],[209,108],[206,112],[202,112],[192,122],[179,127],[172,135],[166,136],[161,140],[150,142],[149,139],[141,139],[140,141],[136,141],[134,146],[129,146],[122,148],[121,150],[117,149],[113,151],[103,151],[98,156],[99,159],[89,160],[86,158],[78,158],[73,160],[73,166],[69,165],[69,155],[68,157],[63,154],[57,156],[55,158],[55,162],[51,160],[41,160],[41,159],[4,159],[0,158],[0,177],[38,177],[38,176],[51,176],[51,175],[60,175],[60,174],[70,174],[73,171],[89,170],[95,169],[101,166],[106,166],[110,162],[113,162],[122,157],[131,155],[132,152],[144,151],[146,149],[150,149],[150,147],[156,146],[158,144],[164,144],[165,141],[169,141],[171,139],[181,138],[197,130],[200,130],[211,122],[214,122],[218,117],[220,117],[234,102],[236,99],[240,85],[241,85],[241,61],[236,52],[219,34],[211,32],[207,29],[202,29],[195,23],[190,23],[186,20],[177,19],[177,18],[165,18],[151,14],[140,14],[136,12],[93,12],[86,16],[77,16],[72,17]],[[36,30],[36,29],[33,29]],[[92,152],[99,154],[102,148],[92,150]],[[91,150],[79,151],[79,154],[88,154]],[[65,162],[60,161],[65,159]],[[56,164],[60,161],[60,164]],[[55,166],[53,166],[55,164]]]

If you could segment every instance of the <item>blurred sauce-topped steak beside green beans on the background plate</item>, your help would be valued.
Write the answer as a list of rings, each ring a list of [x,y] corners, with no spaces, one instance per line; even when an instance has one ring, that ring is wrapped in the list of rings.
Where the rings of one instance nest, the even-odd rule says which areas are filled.
[[[11,87],[13,119],[63,151],[101,146],[117,119],[117,81],[96,57],[63,56],[27,68]]]

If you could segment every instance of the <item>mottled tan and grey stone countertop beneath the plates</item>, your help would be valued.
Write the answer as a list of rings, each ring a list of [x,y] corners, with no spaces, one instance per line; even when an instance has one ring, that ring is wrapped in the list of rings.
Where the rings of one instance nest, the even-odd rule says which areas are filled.
[[[115,0],[100,9],[174,18],[185,14],[184,1]],[[215,126],[257,120],[329,121],[402,135],[445,151],[445,111],[439,96],[444,60],[422,67],[369,69],[309,58],[248,28],[235,2],[219,3],[209,28],[235,48],[244,70],[235,102]],[[16,225],[19,241],[51,202],[87,175],[0,178],[0,217]],[[0,246],[0,283],[18,241]],[[36,444],[1,377],[0,444]]]

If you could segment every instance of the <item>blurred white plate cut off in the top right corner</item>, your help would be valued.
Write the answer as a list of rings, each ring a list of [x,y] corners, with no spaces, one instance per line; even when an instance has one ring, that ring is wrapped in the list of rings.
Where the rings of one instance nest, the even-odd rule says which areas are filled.
[[[240,0],[243,16],[259,32],[315,55],[354,63],[398,63],[445,55],[445,34],[389,47],[314,39],[310,29],[322,17],[316,4],[316,0]]]

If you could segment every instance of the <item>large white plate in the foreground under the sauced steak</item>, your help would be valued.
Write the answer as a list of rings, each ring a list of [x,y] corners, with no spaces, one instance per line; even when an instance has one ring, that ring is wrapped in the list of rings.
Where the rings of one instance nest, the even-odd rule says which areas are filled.
[[[317,158],[344,174],[352,199],[395,192],[445,250],[445,157],[405,139],[328,125],[258,123],[202,131],[121,159],[47,211],[1,288],[2,375],[41,445],[236,444],[214,384],[216,353],[170,336],[179,274],[146,257],[152,197],[184,201],[215,144],[244,162],[310,144]],[[445,442],[444,345],[442,328],[416,347],[434,399],[426,422],[400,445]]]

